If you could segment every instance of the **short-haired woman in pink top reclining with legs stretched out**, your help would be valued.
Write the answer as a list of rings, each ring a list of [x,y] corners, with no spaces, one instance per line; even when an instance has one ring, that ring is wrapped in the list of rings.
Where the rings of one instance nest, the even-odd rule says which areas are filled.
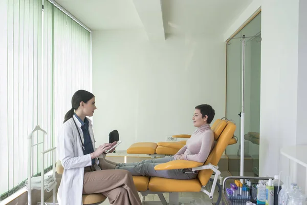
[[[195,107],[193,124],[196,129],[186,145],[177,154],[171,157],[148,159],[135,163],[118,163],[115,169],[128,170],[133,176],[158,176],[170,179],[193,179],[197,173],[191,173],[191,169],[177,170],[155,170],[159,163],[171,160],[185,159],[191,161],[205,162],[214,146],[214,135],[210,129],[210,123],[215,115],[210,105]],[[190,173],[186,173],[190,172]]]

